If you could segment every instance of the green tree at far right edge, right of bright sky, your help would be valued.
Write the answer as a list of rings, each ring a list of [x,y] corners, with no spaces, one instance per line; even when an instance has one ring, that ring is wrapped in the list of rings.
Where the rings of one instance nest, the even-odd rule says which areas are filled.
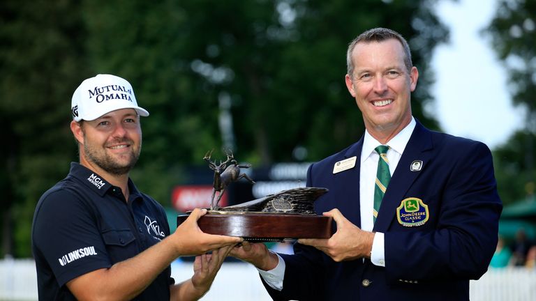
[[[505,203],[533,194],[536,136],[536,1],[502,0],[484,33],[509,74],[514,105],[526,109],[525,128],[495,150],[499,192]]]

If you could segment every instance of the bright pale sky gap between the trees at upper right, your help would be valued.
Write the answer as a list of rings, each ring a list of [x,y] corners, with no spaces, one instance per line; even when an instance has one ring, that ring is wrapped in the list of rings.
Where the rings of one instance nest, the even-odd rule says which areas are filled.
[[[435,104],[429,111],[438,116],[444,132],[482,141],[493,150],[523,128],[524,115],[512,105],[507,71],[479,33],[491,21],[498,1],[483,2],[438,3],[438,15],[451,36],[433,55]]]

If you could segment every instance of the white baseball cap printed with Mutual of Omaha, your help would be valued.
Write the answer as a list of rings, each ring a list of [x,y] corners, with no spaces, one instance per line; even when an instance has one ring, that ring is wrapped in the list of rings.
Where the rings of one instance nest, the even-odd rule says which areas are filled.
[[[70,109],[75,121],[92,121],[118,109],[132,108],[140,116],[149,112],[137,106],[134,90],[126,79],[115,75],[97,75],[84,80],[73,94]]]

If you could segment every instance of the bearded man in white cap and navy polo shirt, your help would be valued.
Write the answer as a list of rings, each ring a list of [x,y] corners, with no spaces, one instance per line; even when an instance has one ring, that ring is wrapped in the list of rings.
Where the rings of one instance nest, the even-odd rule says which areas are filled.
[[[80,164],[41,196],[32,226],[39,299],[201,298],[241,238],[203,233],[200,209],[171,234],[163,207],[137,190],[128,173],[140,156],[140,116],[149,112],[125,79],[84,80],[71,109]],[[193,277],[174,284],[170,263],[190,255],[199,255]]]

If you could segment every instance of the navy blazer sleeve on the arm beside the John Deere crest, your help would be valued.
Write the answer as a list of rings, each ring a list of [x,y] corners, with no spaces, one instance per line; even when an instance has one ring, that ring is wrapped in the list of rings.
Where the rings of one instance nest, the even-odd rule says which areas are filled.
[[[437,171],[447,175],[436,191],[440,210],[435,229],[385,233],[388,281],[479,279],[486,272],[497,245],[502,204],[491,152],[472,142],[463,151],[452,149],[456,155],[447,158],[449,169]]]

